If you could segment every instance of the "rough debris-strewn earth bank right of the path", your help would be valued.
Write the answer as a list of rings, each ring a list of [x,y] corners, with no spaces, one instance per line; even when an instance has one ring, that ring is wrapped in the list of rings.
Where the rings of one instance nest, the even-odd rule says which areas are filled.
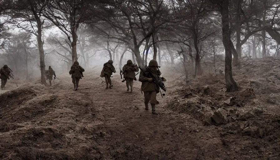
[[[245,151],[258,153],[266,148],[273,150],[279,158],[280,150],[276,146],[280,142],[280,59],[249,59],[234,68],[234,79],[239,91],[226,93],[224,76],[202,76],[190,81],[189,86],[172,88],[167,108],[179,113],[187,113],[205,125],[216,124],[225,146],[248,146]],[[216,121],[215,121],[216,120]],[[213,122],[214,121],[214,122]],[[247,136],[247,137],[242,137]],[[233,142],[241,138],[243,142]],[[262,138],[262,140],[257,140]],[[272,140],[273,139],[273,140]],[[273,141],[273,143],[271,142]],[[238,144],[239,143],[239,144]],[[235,146],[236,145],[236,146]],[[235,146],[235,147],[234,147]],[[265,156],[264,156],[265,157]],[[257,156],[257,158],[264,158]],[[238,158],[237,158],[238,159]],[[277,158],[276,158],[277,159]]]

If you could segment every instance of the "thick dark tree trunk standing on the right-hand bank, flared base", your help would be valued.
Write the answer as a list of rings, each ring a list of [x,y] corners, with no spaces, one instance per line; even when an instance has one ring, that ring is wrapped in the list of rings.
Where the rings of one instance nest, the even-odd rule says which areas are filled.
[[[221,1],[221,15],[222,15],[222,42],[225,47],[225,79],[227,92],[238,90],[237,84],[232,78],[232,47],[231,34],[229,28],[229,0]]]

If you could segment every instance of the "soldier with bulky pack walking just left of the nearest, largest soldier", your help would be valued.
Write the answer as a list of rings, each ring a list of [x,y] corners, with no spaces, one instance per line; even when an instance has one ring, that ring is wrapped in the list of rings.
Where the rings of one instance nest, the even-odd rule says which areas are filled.
[[[131,60],[128,60],[127,64],[123,66],[123,78],[125,78],[126,81],[127,91],[129,91],[130,86],[130,92],[132,92],[133,80],[137,80],[134,72],[138,71],[139,68],[137,64],[133,64]]]

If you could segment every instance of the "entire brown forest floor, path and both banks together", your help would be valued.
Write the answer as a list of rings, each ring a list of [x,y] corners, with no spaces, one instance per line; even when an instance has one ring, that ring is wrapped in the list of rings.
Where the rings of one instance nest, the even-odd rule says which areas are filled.
[[[144,110],[141,83],[125,93],[118,74],[108,90],[99,70],[85,73],[78,91],[68,75],[52,87],[11,84],[0,95],[0,159],[280,159],[280,59],[242,62],[234,93],[219,74],[180,86],[179,73],[162,70],[176,87],[158,95],[158,116]],[[215,126],[218,108],[227,122]]]

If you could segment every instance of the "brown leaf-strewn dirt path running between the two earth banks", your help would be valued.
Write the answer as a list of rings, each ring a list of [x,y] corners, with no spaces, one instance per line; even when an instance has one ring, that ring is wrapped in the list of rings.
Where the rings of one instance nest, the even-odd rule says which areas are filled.
[[[73,121],[78,123],[77,126],[69,126],[69,132],[88,137],[86,141],[91,141],[95,150],[83,152],[96,154],[96,159],[228,157],[229,153],[220,149],[224,148],[220,140],[216,143],[216,138],[219,137],[215,132],[217,129],[209,126],[205,128],[202,122],[165,110],[168,96],[163,99],[158,94],[160,104],[156,108],[161,114],[153,115],[150,105],[149,111],[144,110],[140,82],[134,81],[133,93],[125,93],[126,84],[121,83],[119,77],[112,78],[113,89],[105,89],[104,79],[97,77],[86,75],[80,81],[78,91],[69,88],[72,87],[71,81],[61,83],[50,90],[59,97],[68,97],[74,101],[79,97],[78,100],[86,102],[85,106],[79,108],[69,106],[69,109],[77,113],[71,116]],[[88,142],[78,143],[83,146],[83,143]]]

